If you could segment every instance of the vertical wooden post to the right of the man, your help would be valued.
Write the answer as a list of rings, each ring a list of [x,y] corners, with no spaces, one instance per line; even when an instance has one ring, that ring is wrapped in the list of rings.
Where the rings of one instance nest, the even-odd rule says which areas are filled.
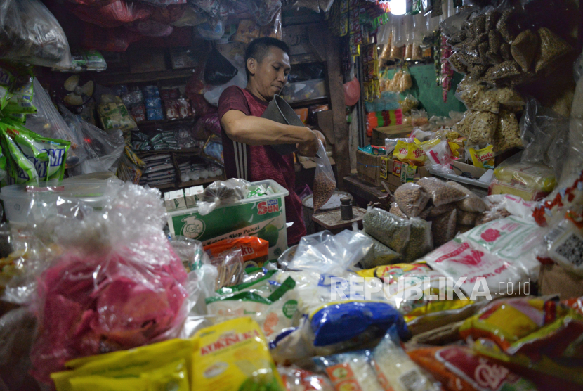
[[[334,158],[338,171],[336,186],[343,189],[343,179],[351,173],[351,162],[349,158],[350,132],[346,123],[344,80],[341,68],[342,40],[340,37],[334,37],[326,24],[308,27],[308,37],[316,56],[325,60],[327,64],[328,91],[334,129]]]

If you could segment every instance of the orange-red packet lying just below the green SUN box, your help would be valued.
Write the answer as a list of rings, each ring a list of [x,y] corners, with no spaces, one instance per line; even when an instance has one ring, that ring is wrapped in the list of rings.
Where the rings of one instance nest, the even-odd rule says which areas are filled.
[[[263,267],[263,264],[268,261],[269,242],[263,239],[242,236],[235,239],[225,239],[213,244],[204,246],[204,251],[210,257],[215,257],[221,252],[225,252],[232,248],[241,248],[243,256],[243,267]]]

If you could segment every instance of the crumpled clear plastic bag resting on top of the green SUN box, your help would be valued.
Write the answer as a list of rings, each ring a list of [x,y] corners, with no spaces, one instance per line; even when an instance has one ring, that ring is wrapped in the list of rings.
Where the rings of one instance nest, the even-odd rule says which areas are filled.
[[[231,178],[226,181],[216,181],[207,186],[197,204],[199,213],[205,216],[219,205],[234,203],[247,197],[250,183],[244,179]]]

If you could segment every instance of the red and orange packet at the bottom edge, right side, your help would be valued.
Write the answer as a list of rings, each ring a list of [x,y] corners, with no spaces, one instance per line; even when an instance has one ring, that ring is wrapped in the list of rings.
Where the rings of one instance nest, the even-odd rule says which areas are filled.
[[[478,356],[467,347],[422,347],[407,354],[447,391],[537,390],[530,381],[516,376],[495,361]],[[489,377],[486,373],[496,373],[497,377]]]

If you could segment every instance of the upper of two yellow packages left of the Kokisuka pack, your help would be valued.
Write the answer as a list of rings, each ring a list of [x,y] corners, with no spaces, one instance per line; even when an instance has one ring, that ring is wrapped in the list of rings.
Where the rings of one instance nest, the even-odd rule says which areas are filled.
[[[192,352],[195,340],[173,339],[152,345],[136,347],[97,356],[82,357],[67,362],[65,366],[72,371],[55,372],[51,378],[58,391],[72,391],[70,379],[84,376],[103,376],[105,378],[137,378],[166,364],[184,359],[187,368],[192,368]],[[192,373],[188,373],[192,384]]]

